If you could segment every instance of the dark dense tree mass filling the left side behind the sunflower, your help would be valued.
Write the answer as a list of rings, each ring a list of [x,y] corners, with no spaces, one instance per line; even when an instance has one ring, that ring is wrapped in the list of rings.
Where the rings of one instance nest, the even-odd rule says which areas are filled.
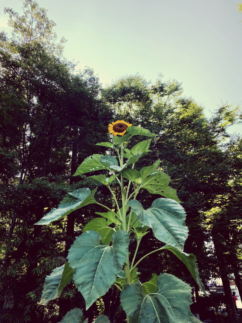
[[[100,85],[92,70],[74,75],[73,64],[48,55],[39,43],[15,49],[15,54],[0,52],[0,151],[7,170],[0,176],[0,302],[5,321],[23,322],[35,315],[43,274],[63,261],[68,241],[59,235],[63,224],[51,235],[33,224],[68,190],[72,163],[92,149],[100,151],[95,141],[105,140],[103,120],[109,112],[98,98]],[[91,209],[85,212],[92,215]],[[86,220],[76,217],[75,229]],[[39,320],[44,317],[47,321],[43,311]]]

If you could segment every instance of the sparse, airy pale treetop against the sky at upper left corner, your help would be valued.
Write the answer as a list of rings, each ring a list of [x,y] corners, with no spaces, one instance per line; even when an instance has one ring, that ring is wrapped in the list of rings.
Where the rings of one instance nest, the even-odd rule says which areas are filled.
[[[55,32],[56,23],[47,16],[47,10],[38,5],[33,0],[23,0],[24,14],[20,16],[12,8],[5,7],[4,12],[9,15],[8,25],[13,28],[12,40],[20,44],[29,44],[31,42],[41,43],[48,53],[58,56],[62,55],[66,39],[62,37],[57,43],[57,34]],[[4,34],[2,41],[6,42]]]

